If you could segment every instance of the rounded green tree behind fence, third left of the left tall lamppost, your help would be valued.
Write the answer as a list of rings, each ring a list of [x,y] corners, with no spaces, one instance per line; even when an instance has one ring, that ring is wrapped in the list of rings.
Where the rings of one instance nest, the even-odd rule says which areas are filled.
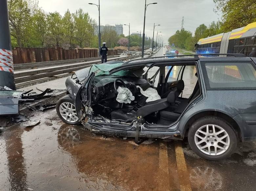
[[[54,40],[54,45],[59,46],[63,37],[62,17],[58,12],[51,12],[47,16],[47,22],[49,24],[51,38]]]

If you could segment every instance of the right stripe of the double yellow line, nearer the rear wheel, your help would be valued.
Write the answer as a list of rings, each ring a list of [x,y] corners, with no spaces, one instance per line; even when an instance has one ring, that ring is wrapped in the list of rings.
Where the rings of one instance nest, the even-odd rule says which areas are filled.
[[[176,162],[178,167],[181,191],[191,191],[190,181],[187,172],[187,165],[181,146],[181,142],[175,143]]]

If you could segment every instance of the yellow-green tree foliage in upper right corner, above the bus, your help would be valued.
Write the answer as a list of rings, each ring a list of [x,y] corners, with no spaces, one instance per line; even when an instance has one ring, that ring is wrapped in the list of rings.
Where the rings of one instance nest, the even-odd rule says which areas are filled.
[[[222,11],[222,32],[244,27],[256,21],[255,0],[213,0],[216,11]]]

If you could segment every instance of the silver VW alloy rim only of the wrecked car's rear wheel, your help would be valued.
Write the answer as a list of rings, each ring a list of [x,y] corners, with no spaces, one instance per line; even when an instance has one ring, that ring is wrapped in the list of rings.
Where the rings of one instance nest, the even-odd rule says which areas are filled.
[[[226,130],[218,125],[207,124],[200,127],[194,136],[196,146],[207,155],[220,155],[230,144]]]

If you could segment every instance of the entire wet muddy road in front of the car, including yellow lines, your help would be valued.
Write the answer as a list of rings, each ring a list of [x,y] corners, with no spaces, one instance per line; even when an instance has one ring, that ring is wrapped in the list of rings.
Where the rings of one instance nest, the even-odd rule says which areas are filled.
[[[64,124],[54,109],[0,133],[0,190],[256,190],[256,143],[220,162],[199,158],[187,140],[95,135]]]

